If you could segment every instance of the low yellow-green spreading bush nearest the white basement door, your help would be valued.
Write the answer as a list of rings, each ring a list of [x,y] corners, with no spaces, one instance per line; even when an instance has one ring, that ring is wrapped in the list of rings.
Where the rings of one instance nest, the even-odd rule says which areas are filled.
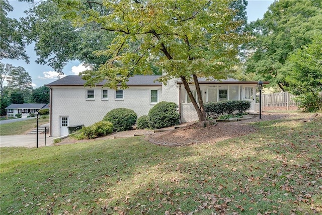
[[[72,133],[70,136],[75,139],[94,139],[105,136],[113,132],[112,122],[101,121],[93,125],[83,127],[78,132]]]

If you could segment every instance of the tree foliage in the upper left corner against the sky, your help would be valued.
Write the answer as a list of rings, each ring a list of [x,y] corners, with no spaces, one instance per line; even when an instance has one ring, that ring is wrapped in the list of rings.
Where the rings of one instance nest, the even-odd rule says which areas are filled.
[[[28,63],[23,28],[16,19],[7,17],[11,11],[8,0],[0,0],[0,60],[23,59]]]

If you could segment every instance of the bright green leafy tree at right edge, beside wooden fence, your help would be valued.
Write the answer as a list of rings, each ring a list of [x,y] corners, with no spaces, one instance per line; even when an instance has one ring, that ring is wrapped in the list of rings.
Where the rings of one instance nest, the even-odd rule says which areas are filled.
[[[322,36],[294,52],[287,63],[287,90],[297,96],[298,106],[305,111],[322,111]]]

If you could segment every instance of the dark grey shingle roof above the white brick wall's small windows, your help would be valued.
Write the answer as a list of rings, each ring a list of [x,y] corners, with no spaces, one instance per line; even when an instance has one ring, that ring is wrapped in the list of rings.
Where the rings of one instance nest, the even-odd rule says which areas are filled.
[[[160,77],[161,76],[133,76],[129,78],[129,81],[126,84],[127,86],[162,86],[162,83],[155,81]],[[85,83],[86,81],[82,79],[82,76],[66,76],[45,86],[84,86]],[[103,86],[104,83],[106,82],[101,82],[97,84],[97,86]]]

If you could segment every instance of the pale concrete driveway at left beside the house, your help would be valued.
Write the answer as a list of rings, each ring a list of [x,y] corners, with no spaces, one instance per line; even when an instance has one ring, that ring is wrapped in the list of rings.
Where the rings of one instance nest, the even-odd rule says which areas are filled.
[[[52,146],[52,139],[46,134],[46,146]],[[38,147],[45,146],[45,134],[38,135]],[[37,147],[36,134],[0,136],[0,147]]]

